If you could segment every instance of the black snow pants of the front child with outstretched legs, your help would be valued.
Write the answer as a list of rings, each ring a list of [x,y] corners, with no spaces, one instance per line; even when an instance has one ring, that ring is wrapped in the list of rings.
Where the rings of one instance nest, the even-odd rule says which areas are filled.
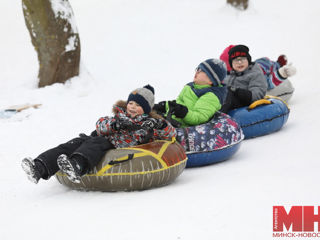
[[[57,158],[61,154],[69,158],[81,156],[86,160],[88,168],[92,169],[101,161],[106,151],[112,148],[114,146],[105,137],[80,134],[80,137],[41,153],[35,161],[40,161],[46,167],[48,176],[44,179],[48,179],[59,171]]]

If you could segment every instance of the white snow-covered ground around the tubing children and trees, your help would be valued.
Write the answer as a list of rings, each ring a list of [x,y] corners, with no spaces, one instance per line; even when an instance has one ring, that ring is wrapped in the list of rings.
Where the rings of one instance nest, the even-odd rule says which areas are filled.
[[[250,0],[70,0],[82,45],[81,75],[37,89],[38,63],[21,1],[0,0],[0,109],[41,103],[0,120],[0,239],[272,239],[274,205],[319,205],[320,2]],[[147,83],[156,101],[175,98],[201,61],[229,44],[253,59],[287,54],[298,69],[284,128],[246,140],[232,159],[186,169],[142,192],[78,192],[54,178],[30,183],[23,157],[111,114]]]

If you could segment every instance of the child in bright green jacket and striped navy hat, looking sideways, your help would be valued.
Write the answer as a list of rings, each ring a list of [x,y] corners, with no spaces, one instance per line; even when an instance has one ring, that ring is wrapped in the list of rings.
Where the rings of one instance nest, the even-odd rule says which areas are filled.
[[[224,101],[227,90],[221,82],[226,75],[223,61],[207,59],[199,64],[193,82],[184,86],[176,100],[162,101],[155,104],[154,109],[165,116],[171,115],[175,127],[206,123]]]

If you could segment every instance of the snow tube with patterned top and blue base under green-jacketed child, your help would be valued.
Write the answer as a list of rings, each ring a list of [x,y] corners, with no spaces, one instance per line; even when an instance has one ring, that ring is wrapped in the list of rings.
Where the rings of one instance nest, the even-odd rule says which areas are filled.
[[[229,159],[244,136],[238,123],[227,114],[217,112],[207,123],[177,128],[177,141],[185,149],[187,167],[204,166]]]

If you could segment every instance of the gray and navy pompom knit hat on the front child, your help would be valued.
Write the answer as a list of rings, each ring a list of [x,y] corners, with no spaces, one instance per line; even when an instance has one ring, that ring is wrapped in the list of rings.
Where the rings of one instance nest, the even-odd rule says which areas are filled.
[[[143,88],[138,88],[130,93],[127,103],[135,101],[138,103],[144,113],[149,114],[154,105],[154,88],[149,84]]]

